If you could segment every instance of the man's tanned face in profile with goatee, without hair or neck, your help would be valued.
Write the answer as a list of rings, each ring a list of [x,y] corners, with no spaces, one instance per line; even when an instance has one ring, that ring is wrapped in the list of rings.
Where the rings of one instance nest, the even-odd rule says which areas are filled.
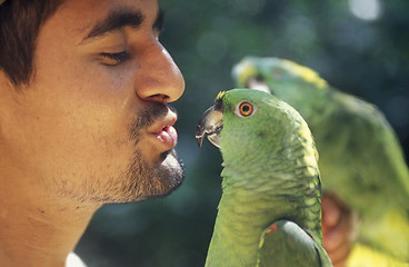
[[[46,21],[33,81],[1,102],[8,159],[33,188],[122,202],[180,185],[167,103],[184,81],[160,20],[157,0],[67,0]]]

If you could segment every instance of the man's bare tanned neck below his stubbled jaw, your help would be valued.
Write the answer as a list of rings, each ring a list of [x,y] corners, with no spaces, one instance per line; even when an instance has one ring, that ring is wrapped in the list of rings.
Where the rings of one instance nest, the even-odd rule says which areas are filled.
[[[0,265],[63,267],[99,206],[47,197],[18,184],[2,182],[0,189]],[[14,188],[6,188],[10,185]]]

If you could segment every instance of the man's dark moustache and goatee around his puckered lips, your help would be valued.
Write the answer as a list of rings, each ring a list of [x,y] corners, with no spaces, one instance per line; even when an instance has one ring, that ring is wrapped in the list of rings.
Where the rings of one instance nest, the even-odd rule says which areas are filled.
[[[134,147],[138,147],[142,129],[166,116],[169,109],[172,108],[152,103],[138,113],[137,119],[129,126],[129,135],[134,141]],[[112,185],[117,188],[117,194],[107,196],[104,202],[142,201],[164,197],[181,185],[184,179],[184,166],[174,149],[162,152],[157,164],[148,164],[142,155],[140,149],[136,149],[127,170],[118,179],[112,180],[117,181],[117,185]]]

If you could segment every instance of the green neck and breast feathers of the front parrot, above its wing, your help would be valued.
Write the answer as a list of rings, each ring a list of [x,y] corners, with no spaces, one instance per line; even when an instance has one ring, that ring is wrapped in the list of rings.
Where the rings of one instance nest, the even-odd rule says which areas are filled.
[[[233,174],[237,175],[229,168],[223,170],[223,194],[209,255],[223,258],[232,266],[249,266],[256,263],[261,233],[280,219],[295,221],[320,236],[318,185],[308,190],[282,178],[268,179],[263,187],[258,187],[231,182],[229,175]],[[316,214],[311,215],[311,210]]]

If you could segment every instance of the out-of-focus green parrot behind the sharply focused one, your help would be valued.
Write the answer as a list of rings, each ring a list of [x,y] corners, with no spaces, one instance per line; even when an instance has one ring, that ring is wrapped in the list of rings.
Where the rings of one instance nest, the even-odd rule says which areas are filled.
[[[285,59],[247,57],[232,76],[239,87],[282,99],[308,122],[320,154],[322,190],[358,214],[357,240],[409,260],[409,170],[380,110]]]

